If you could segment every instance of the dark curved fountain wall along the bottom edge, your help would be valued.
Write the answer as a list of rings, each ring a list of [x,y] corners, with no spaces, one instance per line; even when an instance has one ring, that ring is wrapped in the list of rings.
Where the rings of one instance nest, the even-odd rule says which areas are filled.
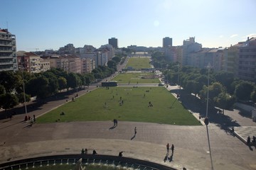
[[[76,164],[80,158],[82,158],[82,164],[108,164],[111,166],[120,166],[127,169],[136,170],[175,170],[169,166],[164,166],[145,160],[100,154],[67,154],[21,159],[0,164],[0,170],[22,170],[31,167],[48,166],[54,164]]]

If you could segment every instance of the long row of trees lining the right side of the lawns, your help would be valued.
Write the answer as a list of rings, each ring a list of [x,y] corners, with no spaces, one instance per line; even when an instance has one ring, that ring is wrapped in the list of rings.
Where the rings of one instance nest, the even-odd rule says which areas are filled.
[[[235,78],[232,72],[214,72],[213,69],[198,69],[170,63],[161,52],[152,55],[154,67],[162,68],[165,79],[182,86],[185,91],[199,96],[202,101],[223,109],[233,106],[235,101],[256,102],[256,86],[254,82]],[[209,79],[208,79],[209,77]],[[209,87],[208,87],[209,81]],[[209,89],[208,89],[209,88]]]

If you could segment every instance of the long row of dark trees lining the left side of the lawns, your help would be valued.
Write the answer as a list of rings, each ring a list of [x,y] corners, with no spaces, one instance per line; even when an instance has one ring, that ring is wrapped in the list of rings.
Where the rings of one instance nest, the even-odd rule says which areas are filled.
[[[0,72],[0,108],[9,109],[31,100],[31,96],[47,98],[66,89],[89,86],[99,79],[110,77],[117,71],[121,56],[113,57],[107,66],[98,66],[91,73],[75,74],[63,69],[50,69],[46,72]],[[26,94],[24,95],[23,89]],[[24,98],[25,96],[25,98]]]

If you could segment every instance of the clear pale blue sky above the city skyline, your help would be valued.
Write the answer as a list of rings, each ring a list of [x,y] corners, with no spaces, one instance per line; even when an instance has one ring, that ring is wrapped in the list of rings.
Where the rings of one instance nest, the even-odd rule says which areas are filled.
[[[256,37],[255,0],[1,0],[0,28],[16,35],[17,50],[173,45],[196,37],[203,47],[229,47]],[[4,7],[4,8],[3,8]],[[8,24],[7,24],[8,23]]]

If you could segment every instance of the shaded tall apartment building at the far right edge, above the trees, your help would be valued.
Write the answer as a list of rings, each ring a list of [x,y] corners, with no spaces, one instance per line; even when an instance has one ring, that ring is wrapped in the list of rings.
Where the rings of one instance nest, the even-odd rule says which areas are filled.
[[[247,38],[238,47],[238,77],[256,81],[256,38]]]

